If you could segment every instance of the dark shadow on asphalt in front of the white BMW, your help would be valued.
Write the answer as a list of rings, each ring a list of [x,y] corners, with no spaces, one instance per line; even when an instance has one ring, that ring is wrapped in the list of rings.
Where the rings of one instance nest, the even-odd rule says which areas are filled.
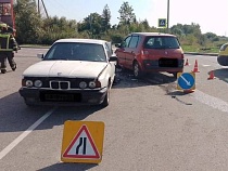
[[[0,132],[20,132],[27,130],[40,117],[54,106],[28,107],[18,92],[0,98]],[[62,126],[66,120],[83,120],[89,115],[101,110],[100,106],[58,107],[51,119],[46,119],[36,130],[52,129]]]

